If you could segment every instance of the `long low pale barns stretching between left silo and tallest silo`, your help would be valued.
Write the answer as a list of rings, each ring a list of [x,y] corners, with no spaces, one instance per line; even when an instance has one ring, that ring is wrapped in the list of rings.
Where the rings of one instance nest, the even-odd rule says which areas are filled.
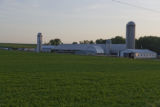
[[[112,44],[110,47],[107,44],[61,44],[58,46],[43,45],[42,51],[84,55],[108,54],[110,52],[118,55],[118,52],[124,50],[125,47],[124,44]]]

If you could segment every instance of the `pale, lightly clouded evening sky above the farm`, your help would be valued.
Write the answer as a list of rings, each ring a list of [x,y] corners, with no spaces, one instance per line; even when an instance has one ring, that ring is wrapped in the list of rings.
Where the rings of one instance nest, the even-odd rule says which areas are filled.
[[[0,0],[0,42],[43,43],[60,38],[73,41],[125,37],[126,24],[136,23],[136,38],[160,36],[159,0]]]

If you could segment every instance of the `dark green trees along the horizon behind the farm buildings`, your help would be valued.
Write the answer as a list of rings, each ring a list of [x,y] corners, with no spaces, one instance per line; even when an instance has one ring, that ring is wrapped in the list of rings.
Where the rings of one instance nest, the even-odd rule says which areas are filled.
[[[116,36],[111,38],[112,44],[125,44],[125,38],[121,36]],[[93,40],[83,40],[79,42],[73,42],[72,44],[105,44],[106,39],[97,39],[96,41]],[[52,39],[47,43],[49,45],[60,45],[63,44],[61,39]],[[137,49],[150,49],[152,51],[157,52],[160,54],[160,37],[157,36],[144,36],[136,39],[136,48]]]

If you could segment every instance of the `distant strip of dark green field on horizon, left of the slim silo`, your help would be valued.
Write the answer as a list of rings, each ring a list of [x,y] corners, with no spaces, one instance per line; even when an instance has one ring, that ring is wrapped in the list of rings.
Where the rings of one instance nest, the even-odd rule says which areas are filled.
[[[4,48],[35,48],[35,44],[16,44],[16,43],[0,43],[0,47]]]

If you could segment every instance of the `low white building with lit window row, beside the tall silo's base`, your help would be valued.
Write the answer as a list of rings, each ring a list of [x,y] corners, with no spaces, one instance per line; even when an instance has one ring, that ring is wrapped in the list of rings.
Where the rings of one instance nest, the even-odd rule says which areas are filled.
[[[149,59],[149,58],[157,58],[157,53],[148,49],[126,49],[120,52],[120,57],[127,57],[134,59]]]

